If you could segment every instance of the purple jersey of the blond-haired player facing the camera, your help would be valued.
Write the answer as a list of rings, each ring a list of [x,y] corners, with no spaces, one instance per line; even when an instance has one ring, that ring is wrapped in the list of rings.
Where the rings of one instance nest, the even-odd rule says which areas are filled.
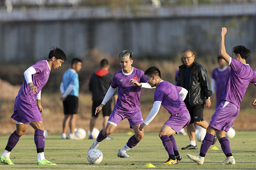
[[[133,71],[126,75],[122,70],[114,74],[111,83],[112,88],[118,87],[118,98],[115,107],[123,111],[140,109],[141,87],[131,84],[130,79],[136,79],[139,83],[146,83],[146,75],[142,70],[133,67]]]

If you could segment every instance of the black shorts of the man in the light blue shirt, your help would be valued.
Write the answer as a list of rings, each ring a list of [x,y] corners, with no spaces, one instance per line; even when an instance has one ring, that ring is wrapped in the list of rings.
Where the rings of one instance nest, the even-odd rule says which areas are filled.
[[[77,114],[78,110],[78,97],[68,95],[66,100],[63,101],[64,115]]]

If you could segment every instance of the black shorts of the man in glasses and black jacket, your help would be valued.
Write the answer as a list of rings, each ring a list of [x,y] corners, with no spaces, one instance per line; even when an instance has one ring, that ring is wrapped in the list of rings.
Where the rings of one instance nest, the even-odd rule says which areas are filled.
[[[189,103],[185,103],[187,106],[187,110],[189,110],[189,114],[190,114],[190,123],[194,123],[194,122],[200,122],[203,121],[203,113],[204,113],[204,104],[202,105],[198,105],[198,106],[193,106],[193,107],[189,107]]]

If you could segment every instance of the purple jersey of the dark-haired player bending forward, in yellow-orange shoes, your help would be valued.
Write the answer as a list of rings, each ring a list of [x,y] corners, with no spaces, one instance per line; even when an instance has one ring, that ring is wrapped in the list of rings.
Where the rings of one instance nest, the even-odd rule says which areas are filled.
[[[162,106],[173,116],[178,113],[188,113],[187,107],[180,97],[181,87],[161,81],[154,92],[155,101],[162,101]]]

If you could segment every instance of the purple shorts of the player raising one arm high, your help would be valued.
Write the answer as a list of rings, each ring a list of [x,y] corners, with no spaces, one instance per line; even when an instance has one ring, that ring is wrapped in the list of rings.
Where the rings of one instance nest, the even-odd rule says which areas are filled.
[[[238,116],[239,111],[240,109],[235,104],[223,100],[212,115],[209,125],[217,130],[227,132]]]

